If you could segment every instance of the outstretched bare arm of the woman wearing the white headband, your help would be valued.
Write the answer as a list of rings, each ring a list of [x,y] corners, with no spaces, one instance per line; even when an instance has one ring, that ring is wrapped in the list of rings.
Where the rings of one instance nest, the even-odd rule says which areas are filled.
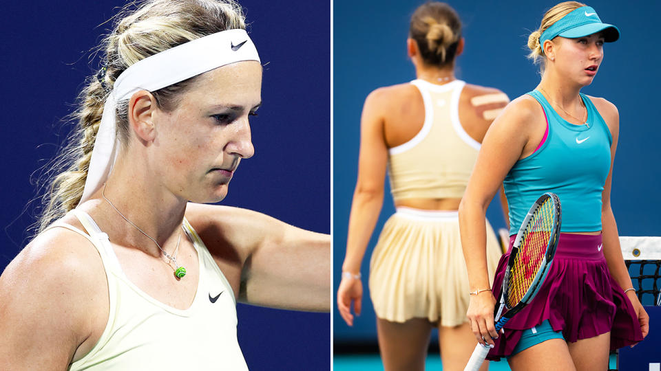
[[[301,311],[330,311],[330,236],[271,216],[189,203],[186,217],[227,277],[238,300]]]

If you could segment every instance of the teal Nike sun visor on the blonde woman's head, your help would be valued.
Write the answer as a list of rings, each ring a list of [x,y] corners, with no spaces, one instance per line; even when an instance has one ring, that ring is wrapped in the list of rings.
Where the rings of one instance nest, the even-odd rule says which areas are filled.
[[[604,41],[607,43],[612,43],[620,38],[618,27],[601,23],[601,19],[599,19],[593,8],[582,6],[572,10],[542,32],[542,36],[539,37],[539,44],[544,45],[545,41],[552,40],[556,36],[579,38],[597,32],[603,33]]]

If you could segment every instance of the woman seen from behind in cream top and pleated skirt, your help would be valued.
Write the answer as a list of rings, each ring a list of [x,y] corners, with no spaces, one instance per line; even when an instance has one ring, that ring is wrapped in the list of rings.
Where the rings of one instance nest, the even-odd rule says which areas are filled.
[[[397,212],[370,262],[370,293],[386,370],[423,370],[439,328],[443,370],[462,370],[476,341],[465,315],[469,287],[457,207],[480,142],[507,96],[454,76],[464,40],[445,3],[421,5],[407,41],[417,79],[368,95],[361,117],[359,173],[347,237],[339,312],[351,326],[362,300],[360,266],[381,210],[388,168]],[[488,267],[501,251],[491,227]]]

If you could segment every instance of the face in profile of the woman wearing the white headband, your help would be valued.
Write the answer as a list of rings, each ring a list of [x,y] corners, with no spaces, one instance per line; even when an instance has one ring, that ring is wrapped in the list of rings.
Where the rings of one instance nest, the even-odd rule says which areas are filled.
[[[154,159],[167,188],[198,203],[224,199],[240,160],[255,152],[249,117],[261,95],[262,65],[244,61],[202,74],[176,109],[157,110]]]

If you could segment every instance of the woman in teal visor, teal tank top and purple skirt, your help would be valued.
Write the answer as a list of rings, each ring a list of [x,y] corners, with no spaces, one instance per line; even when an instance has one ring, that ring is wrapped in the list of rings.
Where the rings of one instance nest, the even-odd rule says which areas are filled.
[[[582,3],[560,3],[529,36],[541,60],[534,91],[513,100],[490,127],[461,206],[461,242],[472,295],[468,317],[488,359],[512,370],[606,370],[609,349],[641,341],[648,317],[625,267],[611,210],[618,109],[580,93],[604,58],[617,27]],[[493,286],[487,279],[484,215],[503,183],[510,206],[510,249],[529,205],[544,192],[560,197],[563,221],[551,271],[531,304],[494,330],[494,304],[510,254]],[[483,291],[493,287],[494,293]]]

